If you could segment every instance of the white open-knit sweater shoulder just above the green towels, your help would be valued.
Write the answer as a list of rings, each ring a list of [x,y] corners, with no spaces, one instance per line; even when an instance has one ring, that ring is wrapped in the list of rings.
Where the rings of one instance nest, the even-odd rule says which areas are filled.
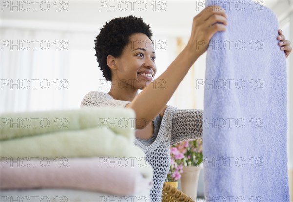
[[[109,94],[91,91],[86,94],[81,102],[81,107],[125,107],[130,101],[115,100]]]

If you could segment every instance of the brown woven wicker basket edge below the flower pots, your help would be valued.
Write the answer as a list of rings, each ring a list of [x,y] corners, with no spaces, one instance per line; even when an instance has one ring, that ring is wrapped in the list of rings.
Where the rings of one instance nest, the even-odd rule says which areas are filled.
[[[195,202],[182,191],[164,182],[162,202]]]

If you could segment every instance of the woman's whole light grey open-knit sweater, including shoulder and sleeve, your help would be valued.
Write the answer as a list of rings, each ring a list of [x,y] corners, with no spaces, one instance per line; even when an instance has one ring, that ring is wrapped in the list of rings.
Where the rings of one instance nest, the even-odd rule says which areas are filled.
[[[107,93],[91,91],[82,100],[81,107],[125,107],[130,101],[115,100]],[[202,114],[200,109],[177,109],[167,106],[155,141],[145,146],[135,139],[134,144],[142,148],[146,161],[153,167],[152,202],[161,202],[163,183],[170,168],[170,145],[189,139],[202,138]]]

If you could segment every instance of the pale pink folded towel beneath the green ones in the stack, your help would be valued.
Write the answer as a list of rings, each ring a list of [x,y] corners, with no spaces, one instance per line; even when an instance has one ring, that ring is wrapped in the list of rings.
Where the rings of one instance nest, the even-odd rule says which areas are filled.
[[[129,158],[57,158],[1,162],[0,189],[69,188],[114,195],[151,189]]]

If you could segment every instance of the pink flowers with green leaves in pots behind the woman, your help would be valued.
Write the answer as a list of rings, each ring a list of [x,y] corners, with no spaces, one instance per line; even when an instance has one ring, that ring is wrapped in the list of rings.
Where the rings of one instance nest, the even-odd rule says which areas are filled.
[[[181,141],[170,147],[171,166],[166,182],[177,182],[183,166],[198,166],[203,162],[202,139]]]

